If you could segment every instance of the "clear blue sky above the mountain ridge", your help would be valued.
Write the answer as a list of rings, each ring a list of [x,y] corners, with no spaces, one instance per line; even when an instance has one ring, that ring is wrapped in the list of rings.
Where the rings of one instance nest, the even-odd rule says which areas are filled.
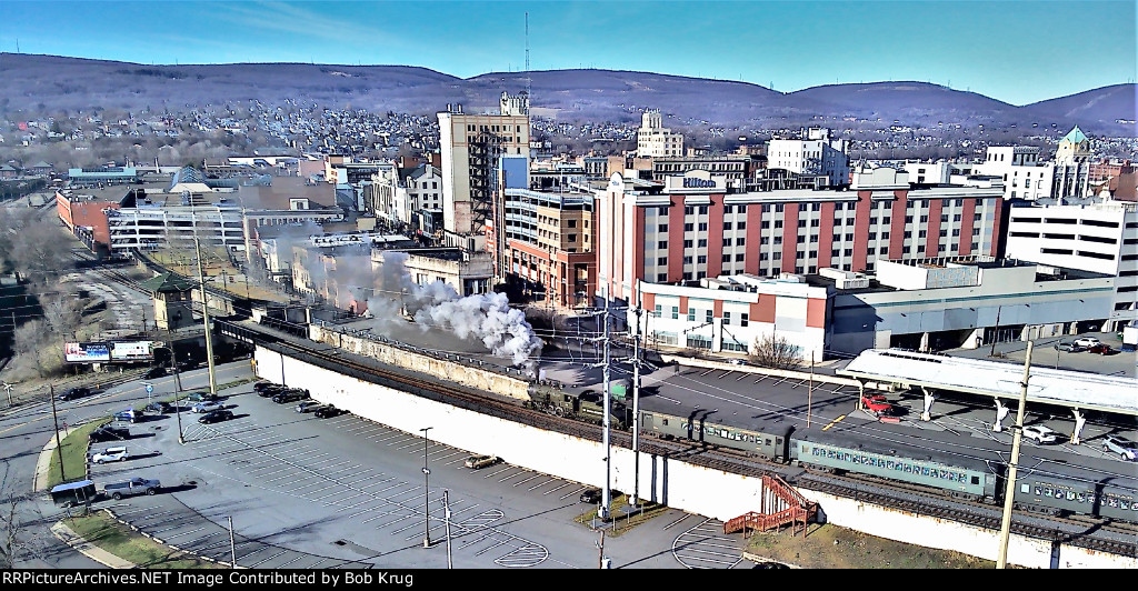
[[[918,80],[1024,105],[1132,82],[1136,2],[5,0],[0,50],[140,64],[607,68],[790,92]]]

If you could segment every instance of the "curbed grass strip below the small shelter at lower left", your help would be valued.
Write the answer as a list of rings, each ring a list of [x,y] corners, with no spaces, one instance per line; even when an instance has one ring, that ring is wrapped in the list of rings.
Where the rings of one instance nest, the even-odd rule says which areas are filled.
[[[141,568],[226,568],[171,550],[118,523],[105,511],[72,517],[65,523],[92,544]]]

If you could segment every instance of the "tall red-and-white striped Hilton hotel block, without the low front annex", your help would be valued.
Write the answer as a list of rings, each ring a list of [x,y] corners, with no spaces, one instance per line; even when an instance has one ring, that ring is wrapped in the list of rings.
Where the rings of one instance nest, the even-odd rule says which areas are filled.
[[[633,188],[613,174],[599,191],[597,292],[635,303],[638,282],[824,268],[873,272],[880,259],[999,256],[1004,188],[912,189],[892,168],[855,170],[849,190],[743,192],[691,170]]]

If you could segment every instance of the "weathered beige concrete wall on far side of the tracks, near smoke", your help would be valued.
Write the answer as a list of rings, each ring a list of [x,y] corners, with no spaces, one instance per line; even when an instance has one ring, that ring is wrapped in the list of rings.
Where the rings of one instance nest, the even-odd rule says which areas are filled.
[[[331,331],[318,324],[310,325],[308,332],[308,338],[313,341],[328,343],[345,351],[371,357],[388,365],[428,375],[444,375],[452,382],[468,388],[486,390],[517,400],[529,400],[529,394],[527,393],[529,382],[521,377],[510,377],[497,372],[479,369],[457,361],[438,359],[427,355],[415,355],[412,351],[399,349],[391,344]]]

